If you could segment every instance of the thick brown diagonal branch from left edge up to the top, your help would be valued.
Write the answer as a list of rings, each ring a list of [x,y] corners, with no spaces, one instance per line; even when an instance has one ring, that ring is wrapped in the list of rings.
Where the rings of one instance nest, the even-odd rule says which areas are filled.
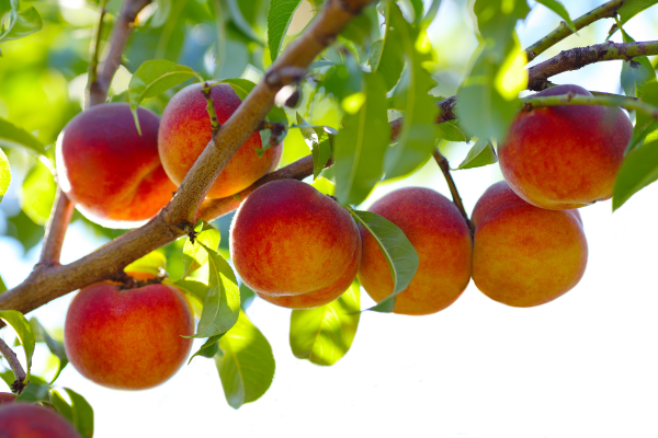
[[[325,2],[322,11],[315,21],[307,26],[302,36],[287,46],[271,69],[308,68],[350,20],[372,1],[329,0]],[[124,5],[124,12],[128,4],[136,3],[145,4],[147,2],[128,0]],[[122,18],[125,15],[122,13]],[[117,27],[115,27],[115,33]],[[113,45],[115,39],[113,37]],[[114,47],[112,47],[111,54],[113,50]],[[121,57],[121,53],[118,57]],[[109,61],[106,61],[104,71],[110,66]],[[99,79],[103,77],[104,74]],[[198,208],[209,187],[235,152],[264,119],[274,104],[274,95],[279,90],[280,87],[268,84],[264,81],[254,87],[196,160],[172,201],[147,224],[123,234],[69,265],[55,265],[33,270],[21,285],[0,295],[0,309],[14,309],[27,313],[72,290],[109,278],[131,262],[183,235],[185,228],[194,223],[200,215]],[[303,164],[304,160],[300,160]],[[304,165],[299,168],[306,171]],[[280,175],[283,176],[283,174]],[[209,208],[204,211],[209,211]],[[220,210],[217,209],[217,211]]]

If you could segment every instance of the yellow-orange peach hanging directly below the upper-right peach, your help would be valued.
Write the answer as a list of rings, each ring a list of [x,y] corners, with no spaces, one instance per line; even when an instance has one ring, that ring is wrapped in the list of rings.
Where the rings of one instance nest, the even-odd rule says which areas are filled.
[[[587,240],[578,210],[546,210],[501,181],[475,205],[473,280],[492,300],[527,308],[560,297],[580,281]]]

